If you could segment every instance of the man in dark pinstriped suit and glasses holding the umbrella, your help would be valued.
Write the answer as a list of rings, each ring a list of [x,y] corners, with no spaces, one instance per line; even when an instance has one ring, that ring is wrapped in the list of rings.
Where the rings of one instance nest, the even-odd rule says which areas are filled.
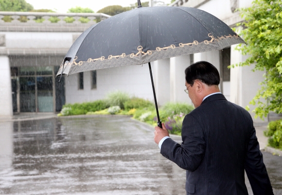
[[[254,195],[273,195],[249,113],[220,93],[219,73],[210,63],[185,70],[195,109],[182,124],[182,143],[155,128],[160,153],[186,171],[187,195],[247,195],[245,172]]]

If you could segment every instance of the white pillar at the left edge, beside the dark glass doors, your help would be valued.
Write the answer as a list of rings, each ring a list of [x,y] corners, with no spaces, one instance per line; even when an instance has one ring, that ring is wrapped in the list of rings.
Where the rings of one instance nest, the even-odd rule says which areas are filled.
[[[0,56],[0,117],[13,116],[12,84],[9,58]]]

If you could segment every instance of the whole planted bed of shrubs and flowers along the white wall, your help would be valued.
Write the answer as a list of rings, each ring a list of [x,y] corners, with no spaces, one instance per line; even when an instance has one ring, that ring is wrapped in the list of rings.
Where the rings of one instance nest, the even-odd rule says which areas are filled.
[[[159,117],[170,133],[181,135],[183,119],[193,109],[193,106],[185,103],[167,103],[159,108]],[[121,91],[108,94],[104,100],[64,105],[58,116],[80,114],[132,115],[134,119],[154,126],[158,121],[152,102],[137,97],[130,98],[127,93]]]

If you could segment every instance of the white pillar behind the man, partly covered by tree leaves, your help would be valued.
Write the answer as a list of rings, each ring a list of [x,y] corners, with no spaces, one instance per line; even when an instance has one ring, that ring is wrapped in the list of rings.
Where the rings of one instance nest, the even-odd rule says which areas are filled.
[[[236,64],[243,62],[248,56],[242,55],[238,51],[235,51],[236,46],[231,46],[231,62],[230,64]],[[237,104],[242,107],[249,106],[249,113],[254,119],[254,113],[252,110],[256,107],[250,105],[249,102],[256,95],[257,91],[261,88],[260,82],[264,80],[263,74],[265,71],[255,71],[254,65],[235,67],[230,70],[230,102]],[[264,100],[261,100],[262,102]],[[264,119],[267,121],[267,119]],[[255,122],[262,122],[259,118]]]

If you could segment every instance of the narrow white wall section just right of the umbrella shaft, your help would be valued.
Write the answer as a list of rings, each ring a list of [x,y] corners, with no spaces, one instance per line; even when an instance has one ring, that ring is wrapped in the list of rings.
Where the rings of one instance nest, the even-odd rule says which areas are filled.
[[[151,62],[158,106],[170,101],[169,58]]]

